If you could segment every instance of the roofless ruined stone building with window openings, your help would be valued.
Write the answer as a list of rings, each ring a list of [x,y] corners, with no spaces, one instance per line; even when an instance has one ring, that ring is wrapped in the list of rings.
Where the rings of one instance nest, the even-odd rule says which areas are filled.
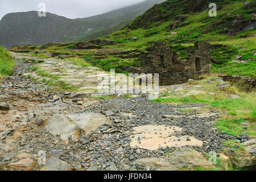
[[[210,71],[210,44],[196,42],[187,59],[179,60],[177,53],[164,42],[156,42],[141,55],[141,73],[159,73],[160,85],[199,80]]]

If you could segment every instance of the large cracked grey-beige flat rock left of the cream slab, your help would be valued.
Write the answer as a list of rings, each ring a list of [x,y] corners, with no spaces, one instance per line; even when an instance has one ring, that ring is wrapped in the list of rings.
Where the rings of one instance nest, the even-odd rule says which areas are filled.
[[[46,129],[49,133],[60,135],[61,139],[68,140],[69,136],[78,138],[82,134],[89,135],[103,124],[110,124],[110,120],[102,114],[56,114],[49,119]]]

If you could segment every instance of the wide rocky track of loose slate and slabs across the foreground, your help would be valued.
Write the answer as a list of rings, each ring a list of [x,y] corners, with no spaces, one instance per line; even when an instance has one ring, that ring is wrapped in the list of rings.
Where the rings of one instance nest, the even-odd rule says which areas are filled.
[[[205,154],[214,151],[226,159],[223,141],[249,139],[214,129],[212,123],[221,114],[215,110],[179,111],[199,111],[205,107],[201,104],[156,104],[147,94],[98,100],[88,97],[90,92],[49,93],[46,84],[23,76],[32,74],[28,67],[34,63],[22,60],[27,56],[15,56],[14,75],[0,82],[1,170],[210,168]],[[41,69],[84,90],[94,90],[89,86],[96,72],[105,74],[67,61],[44,61]],[[39,151],[45,152],[46,164],[38,164]]]

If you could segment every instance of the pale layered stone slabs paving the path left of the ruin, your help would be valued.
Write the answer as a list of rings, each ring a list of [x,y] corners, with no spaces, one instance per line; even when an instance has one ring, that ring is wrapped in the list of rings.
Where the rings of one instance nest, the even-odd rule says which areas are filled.
[[[86,67],[82,68],[75,64],[72,61],[67,60],[57,60],[53,58],[49,59],[38,59],[31,55],[24,55],[21,53],[13,53],[16,59],[26,59],[28,61],[38,61],[39,64],[36,64],[40,70],[44,71],[44,75],[47,73],[49,77],[44,75],[39,75],[38,72],[24,72],[23,76],[29,76],[34,78],[38,82],[47,82],[47,81],[62,81],[67,83],[73,88],[77,88],[78,91],[83,93],[98,96],[97,89],[98,84],[101,81],[102,77],[109,76],[108,72],[101,71],[99,68],[95,67]],[[53,77],[53,78],[52,78]],[[100,80],[98,80],[100,78]],[[115,81],[122,81],[121,78],[115,77]]]

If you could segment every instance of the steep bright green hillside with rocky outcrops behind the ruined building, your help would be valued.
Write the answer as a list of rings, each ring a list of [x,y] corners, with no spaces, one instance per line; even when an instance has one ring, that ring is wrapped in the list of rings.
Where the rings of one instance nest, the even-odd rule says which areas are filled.
[[[209,16],[204,0],[168,0],[155,5],[125,28],[101,39],[123,42],[112,48],[141,49],[164,40],[174,47],[180,59],[197,40],[212,46],[212,72],[255,77],[256,1],[211,1],[217,5],[217,17]],[[131,37],[137,37],[132,41]],[[238,63],[237,63],[238,62]],[[241,63],[242,62],[242,63]]]

